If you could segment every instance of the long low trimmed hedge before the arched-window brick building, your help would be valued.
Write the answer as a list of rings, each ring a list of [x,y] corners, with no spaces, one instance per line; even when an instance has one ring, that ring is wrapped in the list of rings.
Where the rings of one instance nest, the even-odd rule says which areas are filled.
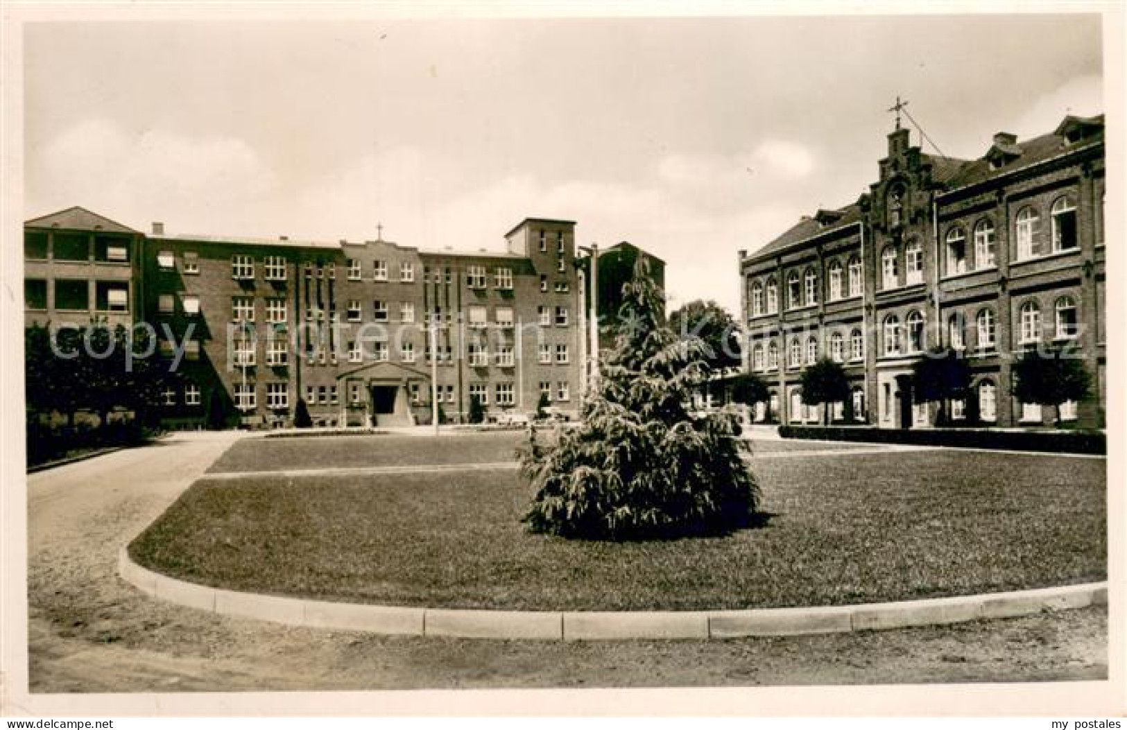
[[[903,429],[833,426],[780,426],[783,438],[914,444],[962,448],[1107,454],[1107,436],[1100,431],[1003,431],[986,429]]]

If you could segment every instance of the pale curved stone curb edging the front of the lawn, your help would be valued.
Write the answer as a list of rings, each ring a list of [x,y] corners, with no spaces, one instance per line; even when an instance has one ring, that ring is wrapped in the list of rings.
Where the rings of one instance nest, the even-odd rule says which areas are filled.
[[[854,606],[747,611],[477,611],[410,608],[223,590],[162,576],[118,553],[117,572],[142,593],[213,613],[294,626],[465,639],[733,639],[873,631],[1028,616],[1108,603],[1107,581]]]

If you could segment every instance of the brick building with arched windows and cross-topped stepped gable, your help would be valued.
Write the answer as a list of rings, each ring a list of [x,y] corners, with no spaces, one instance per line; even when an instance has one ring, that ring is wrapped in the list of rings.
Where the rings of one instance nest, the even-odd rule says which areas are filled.
[[[1053,409],[1012,397],[1010,370],[1014,353],[1053,342],[1075,347],[1093,380],[1063,417],[1102,427],[1103,195],[1102,115],[1024,141],[999,133],[976,160],[923,153],[897,122],[868,192],[739,253],[744,366],[771,392],[755,419],[816,422],[798,383],[825,355],[852,384],[837,419],[926,426],[937,406],[914,402],[912,365],[949,346],[974,375],[956,421],[1050,424]]]

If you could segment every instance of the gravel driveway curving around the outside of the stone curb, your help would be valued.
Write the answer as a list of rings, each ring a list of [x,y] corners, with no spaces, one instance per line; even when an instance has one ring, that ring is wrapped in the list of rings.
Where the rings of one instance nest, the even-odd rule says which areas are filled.
[[[1097,679],[1102,608],[950,627],[542,643],[291,629],[150,599],[117,550],[239,436],[192,434],[28,479],[33,693]]]

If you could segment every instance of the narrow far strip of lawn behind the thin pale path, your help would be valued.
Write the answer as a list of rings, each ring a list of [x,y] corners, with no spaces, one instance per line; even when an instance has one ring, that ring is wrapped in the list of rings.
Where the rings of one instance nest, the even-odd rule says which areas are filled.
[[[541,440],[553,439],[550,428]],[[207,470],[218,472],[293,471],[325,468],[491,464],[515,461],[523,431],[463,431],[441,436],[385,434],[301,438],[249,438],[236,443]],[[760,440],[754,453],[851,449],[866,444]]]

